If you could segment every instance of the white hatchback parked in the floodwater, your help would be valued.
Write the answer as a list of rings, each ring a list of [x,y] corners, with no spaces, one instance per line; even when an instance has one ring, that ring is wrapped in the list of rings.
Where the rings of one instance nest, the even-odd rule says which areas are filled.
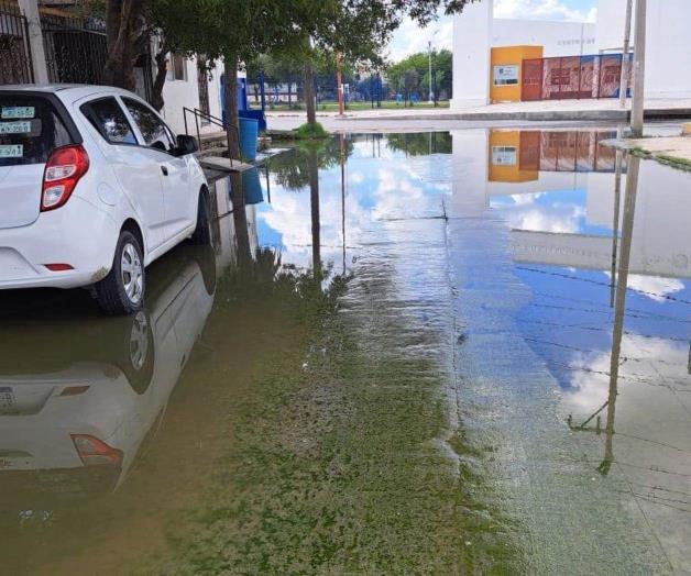
[[[90,287],[106,313],[140,310],[145,266],[209,241],[196,151],[127,90],[0,87],[0,289]]]

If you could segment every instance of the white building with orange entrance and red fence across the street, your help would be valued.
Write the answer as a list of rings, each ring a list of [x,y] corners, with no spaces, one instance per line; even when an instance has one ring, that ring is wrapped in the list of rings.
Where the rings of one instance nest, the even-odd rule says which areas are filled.
[[[492,0],[467,5],[453,20],[451,107],[618,95],[625,4],[626,0],[599,0],[596,23],[495,19]],[[691,62],[690,19],[689,0],[648,0],[648,98],[691,96],[691,77],[679,74],[681,63]],[[567,59],[574,56],[583,58]],[[555,57],[564,59],[547,62]],[[525,60],[535,64],[528,67]],[[526,89],[533,73],[534,93]]]

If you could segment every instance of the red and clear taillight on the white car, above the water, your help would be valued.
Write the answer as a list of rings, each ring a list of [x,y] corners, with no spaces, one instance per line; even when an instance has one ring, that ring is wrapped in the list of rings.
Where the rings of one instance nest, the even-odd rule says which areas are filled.
[[[55,148],[48,156],[43,171],[41,211],[63,206],[89,169],[89,156],[80,145]]]

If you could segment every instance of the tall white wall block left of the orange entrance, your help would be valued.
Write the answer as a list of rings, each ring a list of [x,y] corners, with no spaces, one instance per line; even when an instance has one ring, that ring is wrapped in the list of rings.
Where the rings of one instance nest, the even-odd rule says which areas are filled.
[[[490,101],[492,0],[468,4],[453,16],[453,100],[451,108],[485,106]]]

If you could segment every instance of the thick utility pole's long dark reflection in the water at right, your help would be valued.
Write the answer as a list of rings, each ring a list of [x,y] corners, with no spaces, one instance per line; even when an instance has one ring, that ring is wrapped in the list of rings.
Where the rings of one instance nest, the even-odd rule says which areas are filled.
[[[626,177],[626,197],[624,199],[624,222],[622,225],[622,247],[616,277],[616,293],[614,301],[614,330],[612,333],[612,354],[610,359],[610,392],[607,396],[607,423],[605,428],[605,454],[599,470],[607,474],[614,462],[614,417],[616,409],[617,380],[622,354],[622,335],[624,333],[624,312],[626,310],[626,287],[628,284],[628,268],[630,262],[630,245],[634,235],[634,213],[636,211],[636,195],[638,191],[638,170],[640,159],[636,156],[628,158],[628,174]],[[612,280],[614,284],[614,279]]]

